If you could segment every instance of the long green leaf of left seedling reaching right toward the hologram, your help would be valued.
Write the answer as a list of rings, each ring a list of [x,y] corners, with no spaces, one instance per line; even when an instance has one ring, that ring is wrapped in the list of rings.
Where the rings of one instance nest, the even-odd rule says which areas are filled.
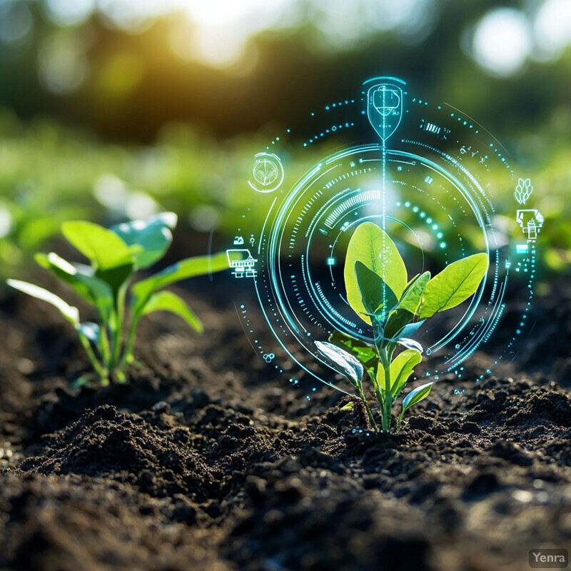
[[[173,266],[168,266],[163,271],[156,273],[150,278],[141,280],[133,285],[133,315],[138,315],[148,298],[157,290],[166,285],[175,283],[194,276],[203,276],[210,272],[219,272],[228,269],[228,258],[226,252],[220,252],[213,256],[196,256],[196,258],[186,258]]]

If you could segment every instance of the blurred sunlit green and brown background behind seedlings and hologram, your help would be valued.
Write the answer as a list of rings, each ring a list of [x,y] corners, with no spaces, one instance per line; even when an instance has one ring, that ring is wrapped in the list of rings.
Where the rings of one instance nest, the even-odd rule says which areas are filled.
[[[173,209],[201,253],[268,137],[380,74],[502,141],[567,272],[571,0],[0,0],[0,277],[69,218]]]

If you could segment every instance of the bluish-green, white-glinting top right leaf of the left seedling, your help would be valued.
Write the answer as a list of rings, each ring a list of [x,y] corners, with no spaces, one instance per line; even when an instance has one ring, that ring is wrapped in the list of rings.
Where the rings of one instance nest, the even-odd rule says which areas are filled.
[[[141,246],[134,253],[135,265],[148,268],[160,260],[173,241],[171,228],[176,227],[176,214],[162,212],[147,220],[133,220],[111,227],[128,246]]]

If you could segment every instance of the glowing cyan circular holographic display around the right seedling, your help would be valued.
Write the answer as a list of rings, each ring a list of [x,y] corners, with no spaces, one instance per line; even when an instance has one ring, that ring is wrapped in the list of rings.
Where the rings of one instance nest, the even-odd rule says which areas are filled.
[[[236,306],[261,358],[292,383],[309,377],[347,388],[335,385],[337,371],[315,341],[338,330],[372,343],[343,282],[350,236],[371,221],[393,238],[413,275],[483,251],[490,261],[475,295],[418,330],[415,340],[430,355],[418,377],[462,378],[463,363],[483,345],[492,357],[478,378],[509,363],[525,332],[544,218],[532,182],[513,171],[507,151],[465,113],[425,101],[392,77],[369,79],[353,97],[311,112],[308,129],[287,129],[252,157],[252,202],[263,201],[267,214],[256,223],[248,209],[228,245],[234,278],[257,300],[244,295]],[[288,172],[292,148],[313,157],[305,172]],[[270,346],[251,329],[251,312],[260,310],[275,338]]]

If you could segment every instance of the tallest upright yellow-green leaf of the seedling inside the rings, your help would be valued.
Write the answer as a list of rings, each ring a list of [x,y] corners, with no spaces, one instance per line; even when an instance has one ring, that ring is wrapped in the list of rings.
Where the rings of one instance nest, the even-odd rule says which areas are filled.
[[[351,236],[347,255],[345,256],[345,289],[347,300],[351,308],[366,323],[371,323],[365,315],[361,293],[355,276],[355,263],[361,262],[374,271],[400,299],[407,284],[407,273],[403,258],[400,257],[397,247],[378,226],[370,222],[363,222]]]

